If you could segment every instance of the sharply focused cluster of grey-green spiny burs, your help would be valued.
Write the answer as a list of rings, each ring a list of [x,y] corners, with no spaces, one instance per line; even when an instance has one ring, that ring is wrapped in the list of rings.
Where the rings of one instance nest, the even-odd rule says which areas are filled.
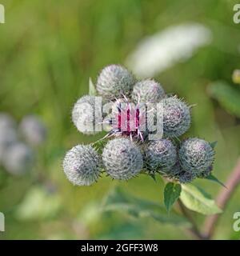
[[[66,177],[74,185],[90,186],[98,180],[102,171],[119,180],[128,180],[142,173],[159,173],[180,183],[210,175],[214,162],[214,149],[210,142],[200,138],[185,138],[181,141],[179,138],[190,128],[190,106],[186,102],[167,95],[153,79],[136,80],[129,70],[119,65],[106,66],[100,72],[96,90],[104,101],[117,106],[124,101],[134,102],[135,106],[141,102],[146,104],[147,109],[148,104],[158,103],[162,108],[163,136],[150,140],[147,129],[143,133],[139,132],[141,118],[138,118],[134,132],[115,132],[116,127],[113,127],[110,138],[100,150],[101,154],[94,144],[74,146],[66,153],[63,161]],[[83,102],[93,108],[82,111]],[[72,112],[74,125],[78,128],[79,120],[86,124],[93,120],[93,110],[94,96],[79,98]],[[118,106],[119,113],[121,110],[121,106]],[[84,120],[81,120],[83,112]],[[126,113],[130,117],[130,110]],[[83,130],[78,130],[84,133]]]

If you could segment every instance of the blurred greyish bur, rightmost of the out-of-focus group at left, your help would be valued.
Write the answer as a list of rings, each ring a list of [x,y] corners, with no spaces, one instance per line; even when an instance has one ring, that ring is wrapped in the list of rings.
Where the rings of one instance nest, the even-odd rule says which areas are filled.
[[[38,146],[46,140],[46,127],[34,115],[26,116],[19,125],[20,134],[30,145]]]

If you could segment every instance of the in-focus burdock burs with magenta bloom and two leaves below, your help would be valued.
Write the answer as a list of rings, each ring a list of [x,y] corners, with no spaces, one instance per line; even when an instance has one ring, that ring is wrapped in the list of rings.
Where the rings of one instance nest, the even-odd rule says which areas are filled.
[[[110,111],[98,118],[96,110],[106,107],[96,106],[97,96],[110,106]],[[183,138],[190,129],[191,106],[176,95],[166,94],[160,83],[153,79],[137,81],[120,65],[106,66],[96,87],[90,82],[90,94],[75,103],[72,120],[83,134],[95,134],[99,124],[108,126],[104,138],[74,146],[66,153],[63,170],[74,185],[90,186],[102,173],[117,180],[146,174],[155,181],[158,174],[166,182],[168,211],[178,201],[183,213],[184,207],[202,214],[221,212],[202,190],[190,184],[196,178],[221,183],[212,174],[215,143]]]

